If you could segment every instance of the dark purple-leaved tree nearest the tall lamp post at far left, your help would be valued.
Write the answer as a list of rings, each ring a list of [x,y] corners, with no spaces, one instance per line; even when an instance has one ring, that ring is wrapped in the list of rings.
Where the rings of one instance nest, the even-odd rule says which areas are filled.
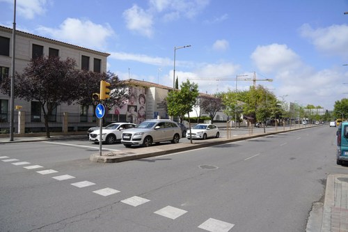
[[[40,102],[45,119],[46,136],[49,135],[49,116],[62,103],[70,105],[79,100],[79,81],[76,62],[73,59],[61,61],[58,56],[33,59],[24,72],[15,73],[15,97]],[[10,94],[10,77],[1,84],[4,93]]]

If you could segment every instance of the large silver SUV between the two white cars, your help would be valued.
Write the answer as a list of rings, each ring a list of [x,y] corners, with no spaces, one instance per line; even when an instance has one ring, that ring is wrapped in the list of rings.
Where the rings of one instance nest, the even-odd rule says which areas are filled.
[[[122,132],[121,143],[127,148],[132,145],[147,147],[162,141],[171,141],[173,144],[177,144],[181,134],[181,129],[177,123],[168,119],[152,119],[143,121],[135,128]]]

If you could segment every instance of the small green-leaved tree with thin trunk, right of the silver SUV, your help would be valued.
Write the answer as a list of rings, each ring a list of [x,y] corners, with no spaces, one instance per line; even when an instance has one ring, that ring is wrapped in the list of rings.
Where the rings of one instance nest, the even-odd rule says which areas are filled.
[[[171,91],[166,98],[168,114],[171,116],[181,116],[187,114],[189,116],[189,127],[191,128],[190,112],[193,106],[196,105],[198,98],[198,85],[187,82],[183,82],[180,85],[179,91]],[[191,140],[192,143],[192,140]]]

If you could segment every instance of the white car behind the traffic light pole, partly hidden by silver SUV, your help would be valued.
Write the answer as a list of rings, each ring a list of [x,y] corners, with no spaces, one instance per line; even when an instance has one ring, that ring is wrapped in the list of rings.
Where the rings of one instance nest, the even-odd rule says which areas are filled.
[[[102,141],[106,144],[115,144],[121,139],[124,130],[134,128],[134,123],[111,123],[102,129]],[[90,132],[89,140],[95,143],[100,141],[100,130]]]

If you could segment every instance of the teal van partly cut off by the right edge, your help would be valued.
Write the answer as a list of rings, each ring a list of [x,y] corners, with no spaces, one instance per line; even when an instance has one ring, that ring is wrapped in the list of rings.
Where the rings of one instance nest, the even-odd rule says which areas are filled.
[[[348,122],[340,123],[337,130],[337,155],[336,163],[348,161]]]

